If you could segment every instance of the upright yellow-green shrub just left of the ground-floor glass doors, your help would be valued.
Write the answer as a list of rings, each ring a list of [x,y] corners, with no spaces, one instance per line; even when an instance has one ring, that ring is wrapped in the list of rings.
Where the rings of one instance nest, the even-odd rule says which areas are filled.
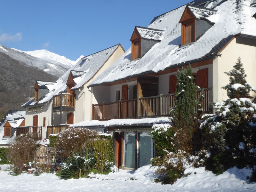
[[[110,172],[114,165],[114,150],[108,139],[97,138],[92,140],[91,148],[94,153],[94,171],[99,173]]]

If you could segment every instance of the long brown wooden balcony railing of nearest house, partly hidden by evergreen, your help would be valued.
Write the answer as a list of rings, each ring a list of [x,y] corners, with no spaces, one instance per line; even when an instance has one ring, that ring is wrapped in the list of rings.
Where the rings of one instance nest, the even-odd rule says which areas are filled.
[[[196,98],[199,99],[200,91]],[[157,116],[170,116],[170,108],[174,107],[175,94],[157,95],[139,98],[137,116],[137,100],[125,100],[111,103],[92,104],[92,120],[109,120],[123,118],[144,118]],[[204,113],[212,112],[212,88],[204,89]]]

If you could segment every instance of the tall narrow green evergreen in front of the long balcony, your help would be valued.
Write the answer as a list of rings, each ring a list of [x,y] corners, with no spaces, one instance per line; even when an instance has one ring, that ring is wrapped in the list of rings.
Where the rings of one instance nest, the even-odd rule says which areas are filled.
[[[193,83],[192,68],[178,71],[177,85],[175,92],[174,108],[172,108],[172,123],[175,132],[175,143],[178,149],[184,150],[189,154],[194,154],[196,148],[201,145],[198,141],[199,123],[195,114],[196,91],[198,87]],[[201,96],[202,97],[202,96]],[[200,98],[201,98],[200,97]],[[202,106],[202,105],[201,105]],[[197,111],[202,113],[201,108]],[[196,116],[196,117],[195,117]]]

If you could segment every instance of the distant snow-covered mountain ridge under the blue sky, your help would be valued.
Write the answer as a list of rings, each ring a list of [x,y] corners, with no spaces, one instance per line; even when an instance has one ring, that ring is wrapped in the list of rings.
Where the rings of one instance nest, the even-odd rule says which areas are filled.
[[[0,52],[9,55],[15,60],[20,60],[28,66],[37,67],[46,73],[58,77],[64,74],[80,58],[84,57],[81,55],[76,61],[73,61],[44,49],[36,51],[20,51],[18,49],[6,47],[2,44],[0,44]]]

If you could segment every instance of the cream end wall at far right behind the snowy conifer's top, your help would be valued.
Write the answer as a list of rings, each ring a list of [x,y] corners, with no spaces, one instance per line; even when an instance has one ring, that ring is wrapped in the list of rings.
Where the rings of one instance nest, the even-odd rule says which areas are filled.
[[[222,86],[229,83],[229,77],[224,72],[233,68],[238,57],[241,57],[244,65],[245,74],[247,75],[245,79],[256,87],[256,43],[252,42],[253,39],[238,36],[220,52],[222,55],[213,61],[213,102],[220,102],[228,98],[226,90],[221,89]],[[252,96],[255,97],[255,95],[252,92]]]

